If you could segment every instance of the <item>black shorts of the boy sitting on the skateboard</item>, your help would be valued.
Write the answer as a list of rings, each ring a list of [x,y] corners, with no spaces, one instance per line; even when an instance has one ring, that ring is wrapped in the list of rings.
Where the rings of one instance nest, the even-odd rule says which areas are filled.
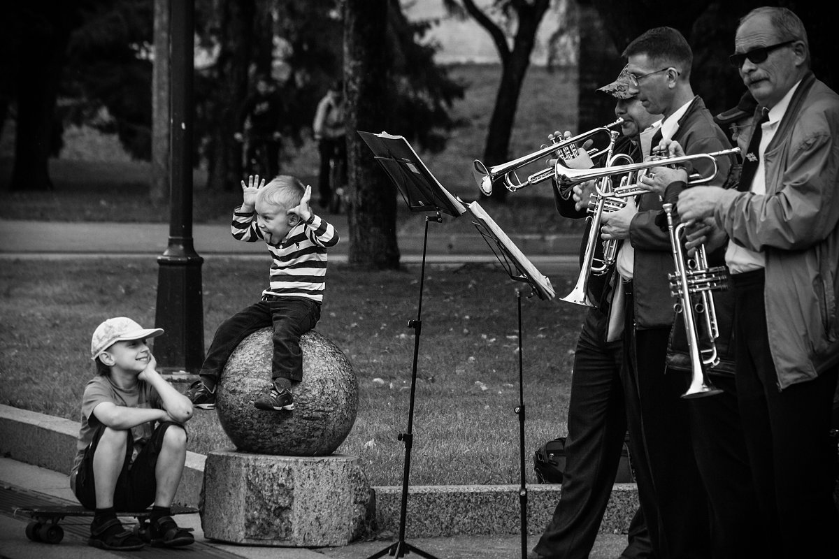
[[[125,431],[128,444],[125,445],[125,460],[122,463],[122,471],[117,478],[117,486],[113,492],[113,507],[117,511],[131,512],[135,510],[146,510],[154,503],[154,496],[157,492],[157,458],[160,448],[163,448],[163,437],[169,427],[182,429],[180,425],[173,422],[160,423],[152,432],[149,441],[137,453],[137,458],[131,461],[134,451],[134,440],[131,430]],[[104,426],[96,429],[91,445],[85,451],[76,474],[76,499],[86,509],[96,509],[96,479],[93,475],[93,456],[105,432]]]

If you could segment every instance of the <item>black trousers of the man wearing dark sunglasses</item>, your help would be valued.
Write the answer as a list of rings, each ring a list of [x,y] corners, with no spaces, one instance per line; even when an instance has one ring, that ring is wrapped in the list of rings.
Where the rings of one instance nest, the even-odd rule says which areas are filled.
[[[839,556],[833,500],[836,445],[831,407],[839,366],[779,391],[769,348],[763,272],[732,275],[737,401],[761,521],[779,557]]]

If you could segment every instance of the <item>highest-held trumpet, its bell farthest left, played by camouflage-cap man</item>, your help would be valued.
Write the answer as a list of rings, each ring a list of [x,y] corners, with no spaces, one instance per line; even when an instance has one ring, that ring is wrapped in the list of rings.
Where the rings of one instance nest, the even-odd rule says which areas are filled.
[[[472,176],[475,179],[477,187],[487,196],[492,194],[492,183],[501,178],[504,180],[504,186],[510,192],[524,189],[525,186],[529,186],[531,184],[538,184],[546,179],[554,177],[555,169],[549,167],[537,173],[533,173],[529,175],[524,183],[519,182],[519,177],[516,176],[515,171],[555,152],[565,152],[567,156],[573,157],[576,155],[577,142],[583,142],[591,137],[597,136],[597,134],[606,133],[611,136],[612,131],[610,128],[618,126],[618,124],[621,124],[622,122],[623,118],[618,118],[617,121],[607,124],[605,127],[592,128],[588,132],[583,132],[575,137],[568,138],[567,140],[553,142],[550,145],[540,148],[538,151],[513,159],[507,163],[493,165],[490,168],[487,168],[485,164],[476,159],[474,163],[472,163]],[[592,149],[587,152],[587,155],[589,158],[597,158],[604,153],[607,153],[608,150],[609,148],[603,148],[601,150]]]

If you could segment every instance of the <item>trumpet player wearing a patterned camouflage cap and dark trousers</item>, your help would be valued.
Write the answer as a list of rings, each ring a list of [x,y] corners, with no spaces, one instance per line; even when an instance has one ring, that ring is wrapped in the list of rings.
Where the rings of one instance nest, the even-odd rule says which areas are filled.
[[[641,146],[645,143],[646,153],[649,153],[650,137],[660,116],[650,115],[644,109],[635,97],[637,91],[628,84],[626,76],[618,76],[618,80],[599,91],[617,99],[615,115],[623,118],[623,137],[615,143],[615,153],[627,153],[636,161],[643,160]],[[570,133],[566,135],[570,136]],[[550,139],[558,136],[560,133],[555,132]],[[555,188],[556,208],[560,215],[585,218],[591,191],[593,184],[580,185],[575,187],[573,197],[564,199]],[[581,242],[581,256],[588,237],[589,230],[586,228]],[[602,243],[598,242],[595,257],[601,256]],[[627,422],[620,380],[621,333],[612,331],[610,334],[608,328],[614,292],[612,272],[610,269],[607,274],[589,278],[588,297],[597,302],[597,307],[589,308],[586,313],[574,354],[562,494],[539,543],[529,553],[533,559],[588,557],[618,474]],[[628,546],[621,556],[624,559],[652,556],[649,532],[640,509],[636,510],[629,526]]]

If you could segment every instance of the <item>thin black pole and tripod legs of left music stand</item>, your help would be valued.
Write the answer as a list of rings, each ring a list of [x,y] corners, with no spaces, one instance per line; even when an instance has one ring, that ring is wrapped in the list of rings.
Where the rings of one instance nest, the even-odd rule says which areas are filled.
[[[374,553],[367,559],[378,559],[378,557],[382,557],[385,554],[389,554],[393,557],[404,557],[411,551],[419,556],[425,557],[426,559],[437,559],[437,557],[431,555],[430,553],[422,551],[420,548],[412,546],[405,541],[405,522],[408,516],[408,479],[411,469],[411,447],[414,446],[414,396],[416,395],[417,361],[420,356],[420,334],[422,334],[422,293],[425,287],[425,249],[428,244],[428,224],[429,221],[432,220],[437,222],[442,221],[443,219],[440,216],[440,212],[437,212],[436,216],[425,217],[425,236],[422,241],[420,297],[417,301],[417,318],[415,320],[410,320],[408,323],[408,327],[414,329],[414,360],[411,363],[411,391],[409,400],[410,403],[408,406],[408,430],[407,432],[400,432],[397,436],[397,439],[402,441],[405,445],[405,462],[402,470],[402,504],[399,509],[399,541],[396,541],[390,546],[385,547],[383,550]]]

